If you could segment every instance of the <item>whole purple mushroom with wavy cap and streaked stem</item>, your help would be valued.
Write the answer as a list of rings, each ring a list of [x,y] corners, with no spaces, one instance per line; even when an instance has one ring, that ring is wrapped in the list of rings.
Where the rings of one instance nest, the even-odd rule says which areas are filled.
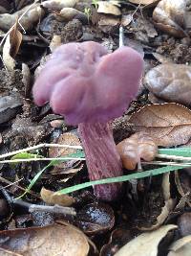
[[[53,112],[78,125],[91,180],[122,175],[110,121],[122,115],[138,93],[143,59],[121,47],[112,54],[96,42],[58,47],[33,86],[37,105],[50,101]],[[97,198],[116,199],[121,183],[96,185]]]

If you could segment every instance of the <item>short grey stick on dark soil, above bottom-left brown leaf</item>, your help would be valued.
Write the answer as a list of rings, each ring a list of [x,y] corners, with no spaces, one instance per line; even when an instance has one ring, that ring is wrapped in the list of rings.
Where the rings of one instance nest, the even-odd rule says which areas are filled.
[[[63,214],[63,215],[76,215],[76,212],[73,207],[64,207],[57,204],[54,204],[53,206],[50,205],[40,205],[40,204],[32,204],[27,201],[23,201],[21,199],[13,199],[13,204],[26,207],[29,209],[29,212],[48,212],[53,214]]]

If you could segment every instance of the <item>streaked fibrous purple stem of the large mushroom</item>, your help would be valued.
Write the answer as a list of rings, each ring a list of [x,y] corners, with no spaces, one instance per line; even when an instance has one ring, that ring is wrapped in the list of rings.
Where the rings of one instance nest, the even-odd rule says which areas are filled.
[[[81,123],[78,125],[82,146],[86,154],[86,164],[91,180],[122,175],[122,164],[117,152],[109,123]],[[121,183],[96,185],[96,198],[117,199]]]

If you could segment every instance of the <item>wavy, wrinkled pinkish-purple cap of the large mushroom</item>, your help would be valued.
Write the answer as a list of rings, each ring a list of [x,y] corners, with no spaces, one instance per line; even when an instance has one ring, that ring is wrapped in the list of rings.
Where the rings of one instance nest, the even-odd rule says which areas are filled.
[[[50,101],[69,125],[108,122],[136,97],[142,66],[141,56],[129,47],[108,54],[96,42],[64,44],[35,81],[34,102]]]

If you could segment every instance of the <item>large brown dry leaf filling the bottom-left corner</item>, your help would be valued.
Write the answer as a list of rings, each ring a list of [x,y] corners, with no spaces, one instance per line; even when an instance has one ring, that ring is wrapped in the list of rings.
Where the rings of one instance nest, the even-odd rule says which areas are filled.
[[[0,231],[0,247],[0,256],[6,255],[3,249],[22,256],[86,256],[89,251],[81,231],[58,224]]]

